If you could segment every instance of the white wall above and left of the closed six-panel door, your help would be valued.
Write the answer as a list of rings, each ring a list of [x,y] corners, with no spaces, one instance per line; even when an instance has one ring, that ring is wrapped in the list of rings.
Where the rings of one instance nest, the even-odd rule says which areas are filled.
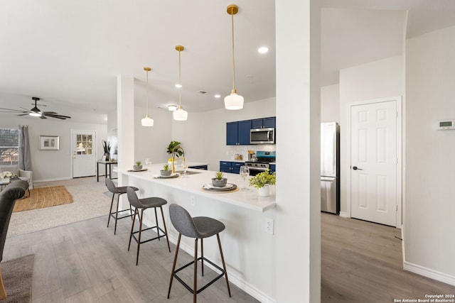
[[[402,96],[403,57],[391,57],[340,71],[340,170],[341,211],[347,211],[348,104],[371,99]]]

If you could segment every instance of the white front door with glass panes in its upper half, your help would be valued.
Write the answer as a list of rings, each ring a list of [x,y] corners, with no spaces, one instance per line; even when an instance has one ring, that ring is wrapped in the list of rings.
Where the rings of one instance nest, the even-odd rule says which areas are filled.
[[[73,131],[73,178],[96,175],[96,132]]]

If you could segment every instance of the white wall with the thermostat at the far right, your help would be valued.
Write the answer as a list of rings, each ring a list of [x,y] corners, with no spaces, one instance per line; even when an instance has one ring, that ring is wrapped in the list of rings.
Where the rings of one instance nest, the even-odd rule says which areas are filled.
[[[455,283],[455,27],[407,40],[405,260]],[[446,281],[449,282],[449,281]]]

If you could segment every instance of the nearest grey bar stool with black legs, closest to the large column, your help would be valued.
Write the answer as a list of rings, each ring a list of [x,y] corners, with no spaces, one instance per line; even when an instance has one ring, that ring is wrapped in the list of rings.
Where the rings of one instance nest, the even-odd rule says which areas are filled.
[[[228,280],[228,272],[226,271],[225,258],[223,257],[223,250],[221,249],[221,242],[220,242],[220,232],[225,229],[225,225],[218,220],[208,218],[206,216],[196,216],[194,218],[191,218],[188,211],[186,211],[186,209],[184,209],[182,206],[178,206],[177,204],[169,205],[169,216],[171,217],[171,222],[172,222],[173,226],[178,231],[178,241],[177,241],[176,255],[174,256],[174,259],[173,259],[171,281],[169,281],[168,299],[169,299],[169,295],[171,294],[171,286],[172,286],[173,277],[176,277],[178,282],[181,282],[181,284],[183,284],[183,286],[185,286],[186,289],[189,290],[193,294],[193,302],[196,303],[196,294],[205,290],[205,288],[212,285],[216,280],[220,279],[220,277],[223,277],[223,275],[225,275],[225,277],[226,277],[226,285],[228,285],[229,297],[231,297],[229,280]],[[178,247],[180,246],[180,239],[181,239],[182,235],[187,236],[189,238],[195,238],[194,239],[194,260],[186,265],[183,265],[181,268],[178,268],[176,270]],[[209,238],[214,235],[216,235],[216,237],[218,238],[218,247],[220,248],[220,257],[221,257],[221,262],[223,263],[223,268],[220,268],[215,263],[204,258],[203,238]],[[198,258],[198,239],[200,239],[200,258]],[[198,260],[201,261],[202,275],[204,275],[204,261],[207,261],[208,263],[213,265],[214,268],[220,270],[220,272],[221,272],[220,275],[218,275],[217,277],[215,277],[215,279],[211,280],[206,285],[201,287],[200,290],[198,290],[198,287],[197,287]],[[178,277],[178,275],[177,275],[177,272],[183,270],[184,268],[187,268],[191,264],[194,264],[193,289],[191,289],[191,287],[189,287],[185,282],[183,282],[183,280],[180,277]]]

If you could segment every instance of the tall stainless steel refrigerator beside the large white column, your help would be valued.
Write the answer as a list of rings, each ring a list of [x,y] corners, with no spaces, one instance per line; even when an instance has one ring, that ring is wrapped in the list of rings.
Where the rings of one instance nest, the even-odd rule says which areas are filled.
[[[340,212],[340,126],[321,123],[321,211]]]

